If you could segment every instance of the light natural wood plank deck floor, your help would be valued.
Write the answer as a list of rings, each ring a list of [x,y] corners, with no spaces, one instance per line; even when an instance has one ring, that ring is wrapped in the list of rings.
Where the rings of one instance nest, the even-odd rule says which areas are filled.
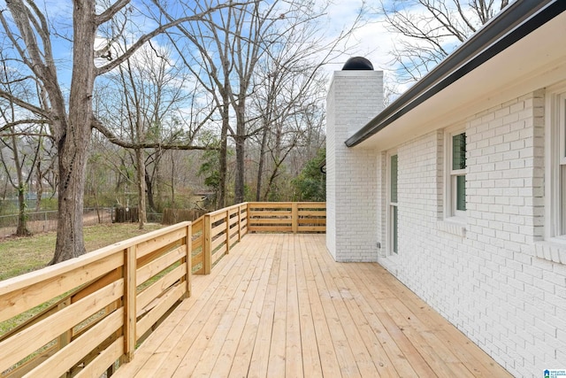
[[[120,377],[505,377],[378,264],[325,235],[253,234],[121,366]]]

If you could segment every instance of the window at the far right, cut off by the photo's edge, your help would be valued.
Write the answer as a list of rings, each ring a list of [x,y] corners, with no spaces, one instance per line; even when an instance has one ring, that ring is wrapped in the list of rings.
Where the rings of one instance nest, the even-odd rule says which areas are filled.
[[[550,91],[546,104],[547,237],[566,239],[566,88]]]

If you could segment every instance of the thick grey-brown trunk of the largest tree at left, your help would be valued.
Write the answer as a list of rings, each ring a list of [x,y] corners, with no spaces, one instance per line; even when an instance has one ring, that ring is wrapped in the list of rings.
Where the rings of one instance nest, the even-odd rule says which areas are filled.
[[[54,95],[51,101],[57,120],[53,129],[59,158],[57,243],[50,264],[79,257],[86,251],[82,210],[93,117],[96,2],[75,0],[73,4],[73,79],[68,119],[65,120],[65,101],[59,96],[58,88],[53,88],[57,85],[57,73],[50,73],[46,80],[48,91]]]

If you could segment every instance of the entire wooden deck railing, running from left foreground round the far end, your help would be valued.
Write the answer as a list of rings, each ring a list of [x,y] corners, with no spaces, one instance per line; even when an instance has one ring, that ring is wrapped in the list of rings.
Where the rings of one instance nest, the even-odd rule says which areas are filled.
[[[0,323],[46,307],[0,336],[0,375],[111,375],[250,231],[324,232],[325,204],[237,204],[0,282]]]

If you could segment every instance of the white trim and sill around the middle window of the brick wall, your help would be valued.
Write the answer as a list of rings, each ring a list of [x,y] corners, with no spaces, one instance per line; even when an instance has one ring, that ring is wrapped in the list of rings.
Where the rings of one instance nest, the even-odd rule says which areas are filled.
[[[456,210],[455,176],[466,174],[464,169],[452,170],[452,137],[466,132],[464,126],[449,127],[444,131],[444,220],[455,222],[459,225],[466,224],[466,212]],[[467,142],[466,142],[467,144]]]

